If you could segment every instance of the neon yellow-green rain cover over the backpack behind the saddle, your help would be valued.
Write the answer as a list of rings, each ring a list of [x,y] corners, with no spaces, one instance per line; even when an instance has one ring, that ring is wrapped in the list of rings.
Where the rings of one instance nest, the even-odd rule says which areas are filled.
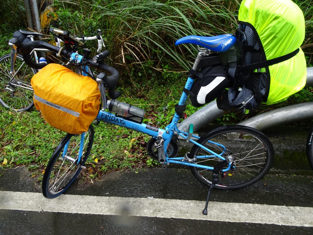
[[[254,26],[266,59],[286,55],[299,48],[305,36],[305,21],[300,8],[291,0],[243,0],[239,21]],[[306,62],[300,51],[289,60],[269,66],[270,88],[266,104],[286,100],[306,83]]]

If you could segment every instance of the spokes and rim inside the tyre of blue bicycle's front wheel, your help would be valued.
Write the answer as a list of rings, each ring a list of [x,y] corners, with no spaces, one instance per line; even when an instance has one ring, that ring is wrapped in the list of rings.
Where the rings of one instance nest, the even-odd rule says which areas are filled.
[[[55,161],[49,175],[48,191],[50,195],[56,195],[66,190],[80,173],[81,166],[85,164],[91,147],[90,131],[85,133],[82,157],[80,164],[77,164],[80,148],[80,136],[81,135],[74,135],[70,138],[65,157],[64,146],[60,149],[58,155],[55,156]]]

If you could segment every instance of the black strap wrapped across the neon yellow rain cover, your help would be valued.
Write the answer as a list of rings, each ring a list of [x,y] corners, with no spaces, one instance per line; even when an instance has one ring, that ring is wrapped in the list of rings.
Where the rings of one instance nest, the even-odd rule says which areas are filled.
[[[292,57],[297,55],[298,52],[299,52],[299,48],[294,50],[293,52],[287,54],[287,55],[282,55],[282,56],[279,56],[279,57],[274,58],[274,59],[265,60],[262,62],[258,62],[258,63],[254,63],[254,64],[250,64],[250,65],[245,65],[245,66],[238,66],[237,72],[253,71],[255,69],[268,67],[270,65],[275,65],[275,64],[278,64],[278,63],[283,62],[285,60],[291,59]]]

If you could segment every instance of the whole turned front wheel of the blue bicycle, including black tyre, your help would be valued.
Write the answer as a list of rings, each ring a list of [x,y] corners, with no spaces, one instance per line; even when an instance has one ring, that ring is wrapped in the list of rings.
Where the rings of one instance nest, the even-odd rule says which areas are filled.
[[[85,132],[84,149],[80,164],[77,164],[77,160],[81,135],[68,133],[61,140],[44,171],[42,193],[45,197],[55,198],[63,194],[74,182],[82,169],[81,167],[85,165],[88,155],[90,154],[94,133],[94,128],[90,125],[88,131]],[[72,161],[70,161],[69,158],[63,157],[64,146],[68,142],[69,147],[65,156],[71,157],[73,159]]]

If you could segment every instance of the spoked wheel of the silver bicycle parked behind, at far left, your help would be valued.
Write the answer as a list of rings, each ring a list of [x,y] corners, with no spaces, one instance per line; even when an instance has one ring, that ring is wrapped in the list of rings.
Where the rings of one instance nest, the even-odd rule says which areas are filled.
[[[37,70],[23,64],[23,56],[17,55],[14,65],[14,71],[18,71],[10,83],[12,75],[10,54],[3,55],[0,58],[0,103],[6,108],[17,112],[28,111],[34,106],[33,91],[26,88],[14,86],[14,84],[30,86],[30,80]]]

